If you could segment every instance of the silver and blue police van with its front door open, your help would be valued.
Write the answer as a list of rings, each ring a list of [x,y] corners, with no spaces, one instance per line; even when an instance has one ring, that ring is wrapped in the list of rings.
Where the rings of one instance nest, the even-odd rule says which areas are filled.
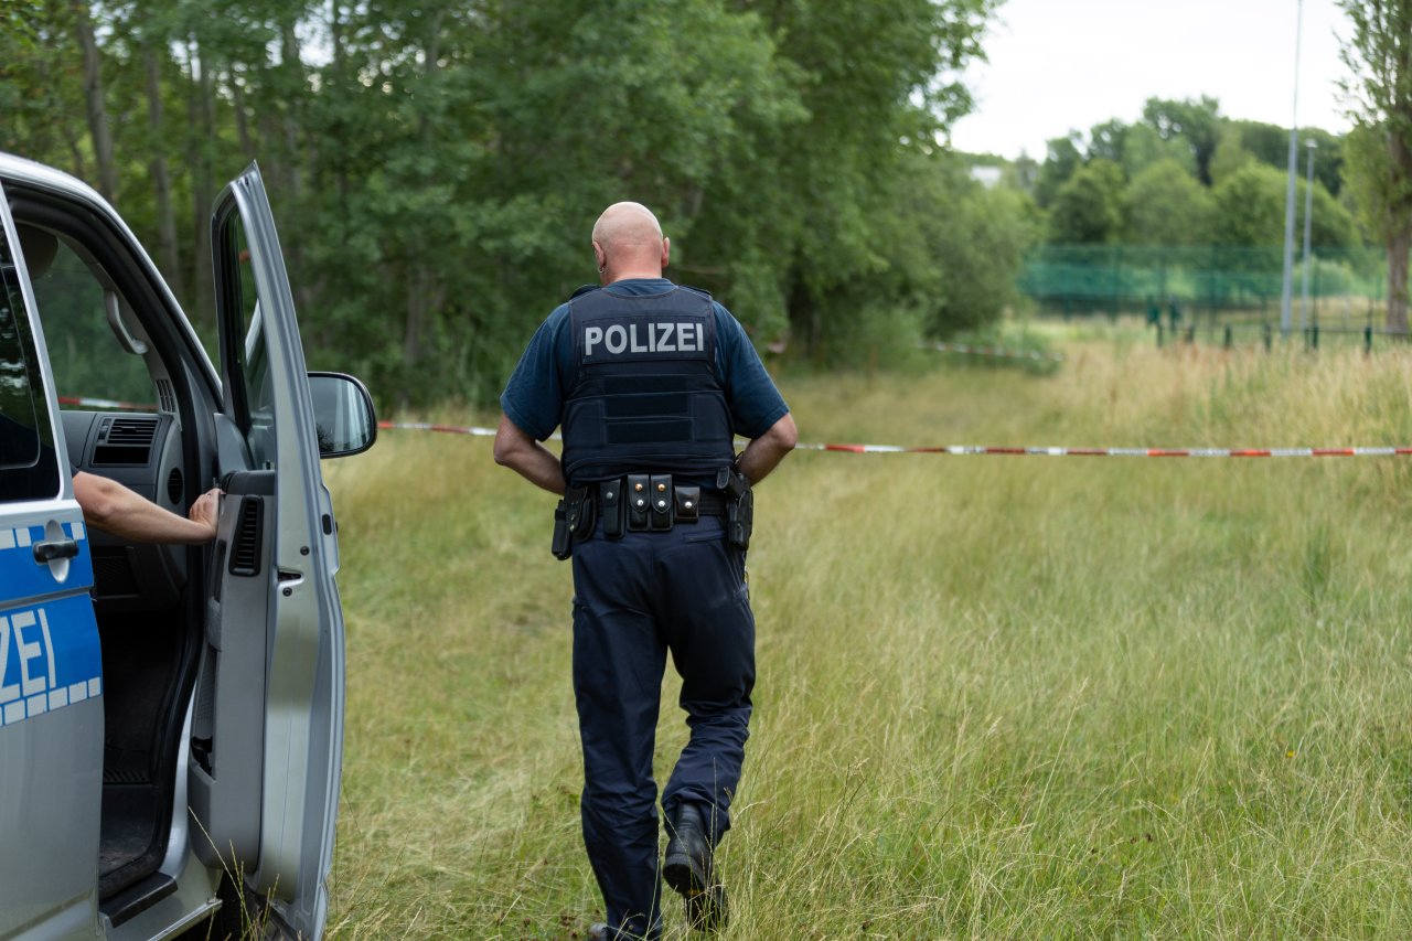
[[[373,444],[367,390],[305,372],[253,164],[210,220],[217,363],[85,184],[0,154],[0,938],[318,938],[343,735],[319,459]],[[219,485],[217,537],[86,528],[76,470],[178,514]]]

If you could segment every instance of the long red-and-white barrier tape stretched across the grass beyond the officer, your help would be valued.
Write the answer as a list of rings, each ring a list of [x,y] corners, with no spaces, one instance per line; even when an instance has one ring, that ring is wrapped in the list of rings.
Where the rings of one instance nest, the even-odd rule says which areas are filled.
[[[493,438],[494,428],[435,425],[419,421],[380,421],[378,428],[439,431],[453,435]],[[554,435],[558,438],[559,435]],[[844,454],[939,454],[952,456],[1011,455],[1028,458],[1395,458],[1412,455],[1406,448],[1010,448],[987,445],[904,445],[801,444],[796,451],[839,451]]]

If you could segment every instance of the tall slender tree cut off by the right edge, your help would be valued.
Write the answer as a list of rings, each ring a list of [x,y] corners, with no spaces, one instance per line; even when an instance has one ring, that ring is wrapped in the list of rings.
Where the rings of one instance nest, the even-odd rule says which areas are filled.
[[[1412,250],[1412,0],[1341,0],[1353,23],[1344,90],[1358,131],[1350,178],[1367,196],[1365,219],[1388,249],[1388,329],[1408,329]]]

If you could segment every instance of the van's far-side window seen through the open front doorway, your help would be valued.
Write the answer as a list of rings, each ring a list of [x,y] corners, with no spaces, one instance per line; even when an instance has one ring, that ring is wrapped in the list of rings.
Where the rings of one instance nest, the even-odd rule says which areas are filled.
[[[92,400],[151,410],[152,379],[141,356],[127,352],[109,325],[107,305],[117,297],[104,291],[88,263],[62,239],[31,229],[47,251],[28,251],[25,261],[34,302],[44,314],[44,339],[61,408],[93,408]],[[35,259],[35,254],[40,257]],[[112,295],[112,300],[106,300]],[[119,316],[134,322],[124,304]],[[78,401],[78,400],[85,401]],[[113,406],[119,407],[119,406]]]

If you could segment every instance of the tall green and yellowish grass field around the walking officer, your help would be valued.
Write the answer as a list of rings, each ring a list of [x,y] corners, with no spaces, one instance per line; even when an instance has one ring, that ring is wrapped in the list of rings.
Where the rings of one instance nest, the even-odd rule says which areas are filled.
[[[1048,376],[938,357],[781,386],[802,441],[1412,444],[1401,353],[1059,342]],[[449,435],[326,472],[330,935],[580,937],[600,900],[552,499]],[[1412,458],[794,455],[757,502],[724,937],[1412,937],[1409,485]]]

